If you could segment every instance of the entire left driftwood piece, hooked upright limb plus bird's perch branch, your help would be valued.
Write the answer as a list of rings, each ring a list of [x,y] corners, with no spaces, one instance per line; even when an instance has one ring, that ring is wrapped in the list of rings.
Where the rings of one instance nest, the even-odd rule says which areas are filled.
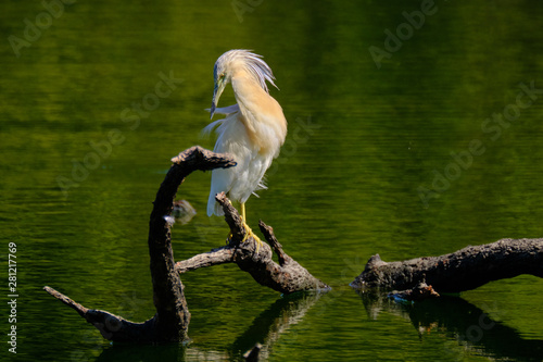
[[[199,146],[179,153],[172,159],[172,162],[173,165],[156,192],[149,222],[148,246],[155,315],[147,322],[134,323],[106,311],[85,308],[48,286],[43,288],[47,292],[77,311],[109,340],[178,342],[188,339],[190,312],[179,276],[188,270],[236,262],[240,269],[250,273],[262,285],[285,294],[329,288],[287,255],[275,238],[272,227],[263,222],[261,222],[261,229],[277,253],[279,264],[272,261],[272,249],[268,245],[263,244],[257,248],[252,237],[241,242],[247,230],[242,226],[238,211],[224,195],[217,196],[217,200],[223,204],[226,222],[232,233],[230,244],[176,264],[172,249],[171,228],[174,224],[172,212],[179,186],[194,171],[231,167],[236,165],[236,162],[227,154],[214,153]]]

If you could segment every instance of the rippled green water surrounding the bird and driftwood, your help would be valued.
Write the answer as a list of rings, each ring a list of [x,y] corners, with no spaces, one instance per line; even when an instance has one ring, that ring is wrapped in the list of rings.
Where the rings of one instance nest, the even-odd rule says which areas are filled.
[[[543,93],[521,88],[543,89],[543,3],[233,3],[245,8],[77,1],[48,17],[39,1],[0,5],[2,360],[239,360],[262,342],[269,361],[541,361],[539,278],[415,305],[348,285],[375,253],[543,235]],[[31,41],[25,18],[42,27],[26,30]],[[386,45],[386,29],[403,40]],[[232,48],[265,55],[289,121],[250,223],[273,225],[333,290],[281,298],[235,265],[199,270],[181,276],[188,347],[111,345],[41,288],[132,321],[154,314],[151,201],[172,157],[213,148],[199,136],[203,109],[213,64]],[[174,80],[159,98],[164,77]],[[142,102],[150,111],[136,116]],[[220,104],[231,102],[227,89]],[[174,227],[177,260],[224,242],[224,222],[205,215],[209,182],[193,174],[180,188],[198,214]],[[9,242],[16,355],[5,342]]]

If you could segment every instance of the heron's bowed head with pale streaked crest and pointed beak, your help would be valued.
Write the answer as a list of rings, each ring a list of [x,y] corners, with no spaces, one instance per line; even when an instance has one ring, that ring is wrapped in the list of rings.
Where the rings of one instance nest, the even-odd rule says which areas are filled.
[[[262,60],[262,55],[244,49],[229,50],[217,59],[213,68],[215,88],[213,89],[213,100],[210,110],[212,118],[220,95],[225,90],[226,85],[230,83],[232,73],[238,67],[244,68],[266,92],[268,92],[266,80],[277,88],[274,84],[275,77],[272,68]]]

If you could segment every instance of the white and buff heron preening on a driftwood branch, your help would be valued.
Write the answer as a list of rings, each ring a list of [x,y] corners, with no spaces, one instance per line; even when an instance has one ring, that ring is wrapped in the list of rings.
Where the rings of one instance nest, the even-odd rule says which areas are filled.
[[[264,174],[287,137],[287,120],[279,103],[269,95],[266,82],[277,88],[272,68],[262,55],[244,49],[225,52],[215,62],[213,77],[215,88],[210,114],[225,117],[212,122],[204,133],[215,129],[217,141],[214,151],[230,153],[237,165],[230,168],[213,170],[207,215],[220,216],[224,211],[215,195],[224,191],[230,200],[241,207],[241,219],[245,228],[245,241],[252,236],[257,247],[262,244],[249,227],[245,202],[257,190],[266,189]],[[220,95],[231,84],[236,104],[217,108]],[[277,88],[279,89],[279,88]]]

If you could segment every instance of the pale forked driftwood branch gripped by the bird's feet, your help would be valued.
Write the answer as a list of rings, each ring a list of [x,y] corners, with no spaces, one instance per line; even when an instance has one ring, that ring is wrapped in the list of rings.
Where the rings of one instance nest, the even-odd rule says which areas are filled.
[[[269,245],[263,242],[258,246],[252,236],[242,241],[247,230],[243,227],[238,211],[232,207],[224,192],[217,195],[216,200],[223,207],[226,223],[230,227],[232,236],[229,244],[210,252],[177,262],[176,271],[186,273],[200,267],[236,263],[239,269],[251,274],[257,283],[281,294],[288,295],[295,291],[330,289],[328,285],[314,277],[305,267],[282,250],[282,246],[274,235],[274,229],[264,222],[260,221],[258,226]],[[279,263],[276,263],[272,259],[272,249],[277,254]]]

